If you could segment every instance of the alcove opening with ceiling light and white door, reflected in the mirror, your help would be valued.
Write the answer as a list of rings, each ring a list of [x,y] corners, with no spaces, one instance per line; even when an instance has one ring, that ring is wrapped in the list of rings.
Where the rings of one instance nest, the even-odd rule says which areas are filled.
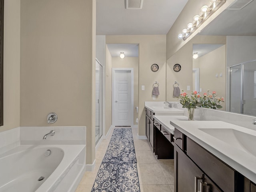
[[[193,44],[193,90],[201,95],[207,90],[216,91],[218,96],[226,96],[226,45]],[[199,81],[198,81],[199,78]],[[222,104],[225,110],[225,104]]]

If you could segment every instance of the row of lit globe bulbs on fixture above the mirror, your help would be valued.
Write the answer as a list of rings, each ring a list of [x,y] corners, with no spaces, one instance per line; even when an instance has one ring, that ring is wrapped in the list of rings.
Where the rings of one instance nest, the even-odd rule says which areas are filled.
[[[178,35],[178,39],[186,40],[199,26],[201,26],[216,10],[218,10],[226,0],[210,0],[210,5],[204,5],[200,9],[200,14],[194,16],[193,22],[187,25],[186,29]]]

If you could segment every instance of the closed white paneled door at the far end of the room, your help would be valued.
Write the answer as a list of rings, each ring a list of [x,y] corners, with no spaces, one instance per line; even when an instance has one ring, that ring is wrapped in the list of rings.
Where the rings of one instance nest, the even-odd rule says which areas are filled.
[[[133,125],[133,70],[112,70],[112,124]]]

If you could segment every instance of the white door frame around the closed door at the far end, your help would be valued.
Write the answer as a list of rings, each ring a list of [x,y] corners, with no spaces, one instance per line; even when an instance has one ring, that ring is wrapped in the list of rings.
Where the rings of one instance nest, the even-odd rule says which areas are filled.
[[[112,126],[114,124],[114,103],[115,103],[115,73],[116,71],[130,71],[131,72],[131,127],[134,126],[134,69],[133,68],[112,68]]]

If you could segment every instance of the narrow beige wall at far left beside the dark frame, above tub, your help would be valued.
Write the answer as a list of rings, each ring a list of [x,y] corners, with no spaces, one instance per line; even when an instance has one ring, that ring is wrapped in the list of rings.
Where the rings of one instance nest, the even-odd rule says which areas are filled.
[[[4,2],[4,126],[20,126],[20,0]]]

